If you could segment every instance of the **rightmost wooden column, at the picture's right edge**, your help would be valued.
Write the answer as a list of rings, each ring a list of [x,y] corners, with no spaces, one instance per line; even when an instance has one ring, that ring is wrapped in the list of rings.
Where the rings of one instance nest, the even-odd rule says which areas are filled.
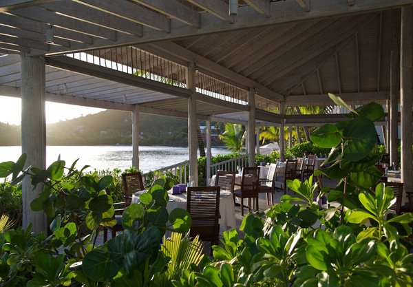
[[[412,97],[413,97],[413,7],[401,8],[401,180],[413,191]]]

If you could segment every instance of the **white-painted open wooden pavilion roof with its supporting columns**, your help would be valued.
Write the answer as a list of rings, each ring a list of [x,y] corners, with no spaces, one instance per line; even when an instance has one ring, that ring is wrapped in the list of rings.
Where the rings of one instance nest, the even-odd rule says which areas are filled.
[[[197,120],[255,127],[337,123],[338,114],[285,115],[285,107],[386,104],[382,125],[413,191],[413,0],[7,0],[0,3],[0,94],[22,99],[22,149],[45,166],[45,100],[188,118],[191,175]],[[297,112],[299,111],[296,109]],[[284,140],[284,129],[280,129]],[[281,144],[284,149],[284,144]],[[211,155],[211,153],[208,153]],[[37,191],[39,193],[39,191]],[[30,210],[23,182],[23,225]]]

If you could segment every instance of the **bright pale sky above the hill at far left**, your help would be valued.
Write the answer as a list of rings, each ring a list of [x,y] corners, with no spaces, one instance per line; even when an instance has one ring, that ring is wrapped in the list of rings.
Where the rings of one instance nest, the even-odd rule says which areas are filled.
[[[70,120],[86,116],[87,114],[96,114],[104,110],[94,107],[46,102],[46,123],[58,123],[60,120]],[[10,125],[21,124],[20,98],[0,96],[0,123],[9,123]]]

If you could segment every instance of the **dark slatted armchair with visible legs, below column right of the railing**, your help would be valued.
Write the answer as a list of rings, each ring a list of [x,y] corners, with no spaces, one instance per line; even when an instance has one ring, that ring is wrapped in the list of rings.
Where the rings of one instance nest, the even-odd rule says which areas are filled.
[[[248,198],[248,210],[251,210],[251,198],[256,202],[258,210],[258,189],[260,188],[260,168],[244,167],[241,184],[235,183],[234,198],[240,198],[241,215],[244,216],[244,198]],[[255,201],[256,200],[256,201]]]

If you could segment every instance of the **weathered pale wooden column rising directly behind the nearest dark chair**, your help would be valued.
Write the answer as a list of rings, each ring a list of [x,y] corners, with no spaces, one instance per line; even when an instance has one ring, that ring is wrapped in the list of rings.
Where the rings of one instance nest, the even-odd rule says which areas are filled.
[[[196,134],[196,93],[195,93],[195,63],[188,64],[188,89],[192,94],[188,99],[188,140],[189,140],[189,176],[198,186],[198,137]]]

